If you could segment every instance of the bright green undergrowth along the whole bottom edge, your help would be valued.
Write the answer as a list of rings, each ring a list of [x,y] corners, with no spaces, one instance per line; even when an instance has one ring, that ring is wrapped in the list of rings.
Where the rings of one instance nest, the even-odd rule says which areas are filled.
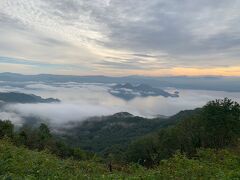
[[[0,141],[0,179],[239,179],[240,155],[230,150],[199,150],[193,159],[177,153],[158,166],[114,166],[93,161],[59,159]]]

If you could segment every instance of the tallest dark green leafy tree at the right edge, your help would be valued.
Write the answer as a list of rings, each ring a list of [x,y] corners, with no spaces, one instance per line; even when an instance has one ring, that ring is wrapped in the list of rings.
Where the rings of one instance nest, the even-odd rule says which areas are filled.
[[[240,106],[228,98],[209,102],[203,107],[204,147],[234,145],[240,135]]]

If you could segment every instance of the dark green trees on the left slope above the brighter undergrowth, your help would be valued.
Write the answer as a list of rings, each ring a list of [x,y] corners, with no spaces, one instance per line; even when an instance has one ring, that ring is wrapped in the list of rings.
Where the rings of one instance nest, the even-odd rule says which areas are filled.
[[[66,143],[54,138],[48,126],[43,123],[38,128],[23,126],[14,133],[14,125],[11,121],[0,120],[0,139],[6,137],[10,138],[17,146],[25,146],[38,151],[48,150],[61,158],[96,159],[94,153],[83,151],[80,148],[69,147]]]

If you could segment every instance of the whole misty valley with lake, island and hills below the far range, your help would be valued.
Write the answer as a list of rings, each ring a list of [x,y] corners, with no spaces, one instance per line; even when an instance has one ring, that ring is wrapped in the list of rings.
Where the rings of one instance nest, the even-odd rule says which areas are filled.
[[[217,87],[203,90],[204,86],[200,89],[153,86],[144,78],[131,83],[128,82],[131,78],[103,83],[87,77],[94,79],[87,83],[66,76],[67,80],[60,82],[42,76],[38,81],[36,76],[19,81],[14,75],[11,81],[0,82],[0,119],[10,120],[18,129],[45,123],[69,147],[81,147],[101,156],[175,124],[192,114],[187,110],[195,113],[196,108],[209,101],[225,97],[240,101],[237,90],[220,91]],[[196,81],[201,82],[202,78]]]

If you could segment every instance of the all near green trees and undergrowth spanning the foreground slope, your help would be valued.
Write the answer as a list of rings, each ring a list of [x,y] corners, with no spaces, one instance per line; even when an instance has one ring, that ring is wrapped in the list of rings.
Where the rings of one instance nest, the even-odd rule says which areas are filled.
[[[4,120],[0,121],[0,177],[238,179],[239,137],[240,105],[227,98],[182,112],[171,123],[138,134],[124,148],[114,146],[104,154],[69,146],[46,124],[16,129]]]

